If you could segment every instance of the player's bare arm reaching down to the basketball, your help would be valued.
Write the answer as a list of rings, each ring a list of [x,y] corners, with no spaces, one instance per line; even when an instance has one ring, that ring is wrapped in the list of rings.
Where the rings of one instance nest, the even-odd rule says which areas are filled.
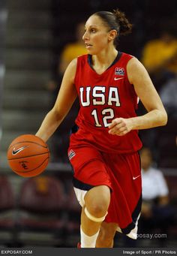
[[[77,98],[77,89],[74,86],[76,70],[77,59],[74,59],[65,71],[62,85],[59,89],[58,97],[52,107],[52,110],[46,114],[39,130],[36,133],[36,136],[40,137],[44,141],[48,140],[49,137],[52,136],[63,119],[65,119],[65,116],[67,116],[69,110],[71,110],[71,107]]]

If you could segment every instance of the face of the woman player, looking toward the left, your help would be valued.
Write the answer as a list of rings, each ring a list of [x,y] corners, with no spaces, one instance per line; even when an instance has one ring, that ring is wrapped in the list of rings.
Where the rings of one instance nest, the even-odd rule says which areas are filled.
[[[86,22],[83,41],[90,54],[98,54],[107,48],[109,29],[100,17],[93,15]]]

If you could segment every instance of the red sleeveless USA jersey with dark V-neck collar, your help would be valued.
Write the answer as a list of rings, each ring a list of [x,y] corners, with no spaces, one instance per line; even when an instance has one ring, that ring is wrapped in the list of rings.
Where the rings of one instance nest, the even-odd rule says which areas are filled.
[[[108,126],[117,117],[136,116],[138,98],[127,79],[127,62],[133,58],[118,53],[110,68],[97,74],[91,65],[90,55],[77,58],[74,80],[80,99],[78,130],[71,135],[71,146],[92,145],[102,152],[129,153],[139,150],[142,142],[138,131],[124,136],[109,134]]]

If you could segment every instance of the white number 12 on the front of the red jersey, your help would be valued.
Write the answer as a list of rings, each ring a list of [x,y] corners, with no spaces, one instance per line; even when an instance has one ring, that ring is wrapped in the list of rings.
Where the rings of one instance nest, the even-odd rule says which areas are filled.
[[[101,119],[103,120],[104,127],[108,127],[114,118],[114,111],[112,108],[106,108],[102,110],[101,115],[98,115],[98,110],[92,110],[91,114],[95,119],[96,127],[103,127],[103,125],[101,125],[101,120],[98,118],[99,116],[102,115]]]

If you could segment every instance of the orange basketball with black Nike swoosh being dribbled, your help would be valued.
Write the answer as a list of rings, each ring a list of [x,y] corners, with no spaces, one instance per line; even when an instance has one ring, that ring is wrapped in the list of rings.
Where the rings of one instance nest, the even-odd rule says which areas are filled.
[[[23,177],[37,176],[49,164],[49,148],[40,137],[23,134],[10,143],[7,161],[14,173]]]

